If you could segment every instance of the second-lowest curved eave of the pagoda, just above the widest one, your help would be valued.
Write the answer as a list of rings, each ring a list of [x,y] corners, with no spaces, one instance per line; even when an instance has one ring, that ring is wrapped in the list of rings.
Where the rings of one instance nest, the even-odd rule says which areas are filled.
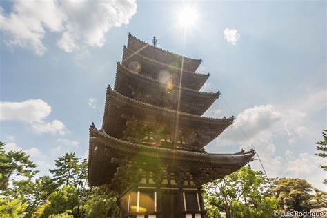
[[[174,123],[178,117],[180,129],[185,128],[195,131],[201,129],[201,132],[203,132],[201,134],[203,136],[201,137],[201,143],[198,145],[199,148],[203,148],[210,143],[210,141],[218,137],[235,119],[233,116],[220,119],[201,117],[186,112],[177,112],[176,110],[153,106],[121,95],[108,86],[102,126],[109,135],[115,137],[121,136],[117,135],[119,134],[119,128],[123,131],[123,129],[121,129],[123,121],[119,117],[125,113],[130,116],[139,117],[139,119],[146,119],[150,116],[159,121],[159,123],[166,123],[168,126],[172,126],[172,123]]]

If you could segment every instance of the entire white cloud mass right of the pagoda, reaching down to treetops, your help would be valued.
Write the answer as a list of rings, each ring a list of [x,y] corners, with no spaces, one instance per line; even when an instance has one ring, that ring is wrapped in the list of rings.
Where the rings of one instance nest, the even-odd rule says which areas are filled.
[[[306,99],[306,101],[303,101]],[[255,146],[268,177],[301,177],[313,183],[317,188],[324,187],[322,181],[326,174],[319,167],[324,159],[308,152],[294,154],[286,150],[284,155],[277,155],[276,150],[283,150],[292,143],[303,141],[314,135],[313,120],[316,112],[326,110],[326,90],[312,90],[283,106],[255,106],[241,112],[235,123],[217,139],[217,146],[240,145],[249,149]],[[244,130],[243,135],[239,126]],[[276,148],[274,141],[286,137],[288,143]],[[314,140],[312,141],[314,145]],[[287,147],[286,147],[287,148]],[[313,146],[314,148],[314,146]],[[297,148],[298,149],[298,148]],[[314,151],[313,151],[314,153]],[[255,170],[262,170],[259,161],[250,163]]]

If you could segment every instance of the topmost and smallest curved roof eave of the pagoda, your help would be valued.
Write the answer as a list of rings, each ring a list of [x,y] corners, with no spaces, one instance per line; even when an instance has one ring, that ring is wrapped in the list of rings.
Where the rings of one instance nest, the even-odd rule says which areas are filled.
[[[195,72],[195,70],[197,70],[202,61],[201,59],[192,59],[189,57],[184,57],[179,54],[164,50],[162,48],[152,46],[149,43],[146,43],[145,41],[141,41],[141,39],[138,39],[130,33],[128,34],[128,48],[132,48],[132,50],[140,52],[141,54],[155,54],[155,56],[157,57],[157,61],[161,61],[164,63],[166,62],[165,59],[178,62],[181,62],[181,60],[184,59],[184,69],[190,70],[192,72]]]

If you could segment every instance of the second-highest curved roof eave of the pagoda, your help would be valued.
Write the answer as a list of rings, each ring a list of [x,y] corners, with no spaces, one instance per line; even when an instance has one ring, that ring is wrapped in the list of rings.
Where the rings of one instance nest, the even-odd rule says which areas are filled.
[[[128,67],[128,63],[130,61],[141,61],[142,63],[147,62],[150,65],[153,65],[155,67],[159,67],[168,71],[172,71],[177,75],[183,75],[182,83],[184,83],[182,86],[186,86],[192,89],[199,90],[201,87],[206,83],[207,79],[209,78],[210,74],[201,74],[196,72],[191,72],[189,70],[186,70],[185,68],[182,70],[181,68],[178,68],[176,66],[172,66],[168,63],[163,63],[161,61],[157,61],[155,59],[152,59],[150,57],[146,57],[139,52],[135,52],[134,50],[131,50],[130,48],[127,48],[126,46],[123,46],[123,60],[122,65]],[[127,63],[127,64],[126,64]],[[186,83],[187,81],[187,83]]]

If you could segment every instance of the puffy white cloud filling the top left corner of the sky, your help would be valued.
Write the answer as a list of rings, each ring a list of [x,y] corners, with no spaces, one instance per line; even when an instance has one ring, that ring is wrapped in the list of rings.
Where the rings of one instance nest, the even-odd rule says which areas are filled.
[[[16,1],[8,15],[1,8],[0,30],[8,34],[6,43],[32,48],[42,55],[46,51],[42,43],[45,28],[51,32],[62,30],[61,16],[54,1]]]

